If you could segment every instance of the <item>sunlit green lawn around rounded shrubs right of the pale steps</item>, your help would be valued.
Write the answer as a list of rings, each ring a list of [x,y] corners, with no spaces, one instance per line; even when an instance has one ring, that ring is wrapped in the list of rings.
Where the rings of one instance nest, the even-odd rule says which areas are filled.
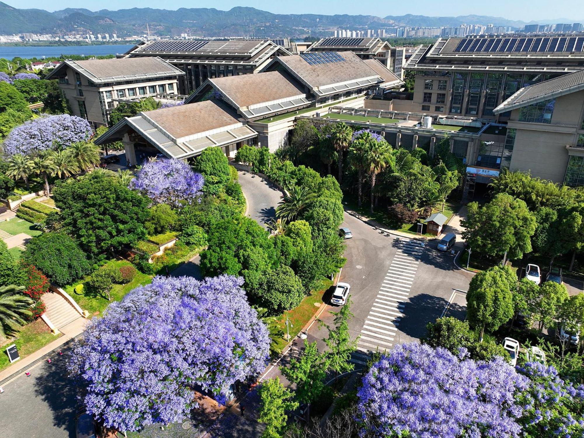
[[[127,260],[110,260],[109,262],[106,263],[106,265],[108,266],[111,265],[119,268],[121,266],[131,266],[132,264]],[[87,293],[79,295],[75,292],[75,286],[81,283],[85,283],[89,279],[89,276],[86,276],[84,279],[81,279],[69,286],[65,286],[64,290],[71,297],[73,297],[75,301],[77,301],[79,307],[81,307],[83,310],[88,311],[89,315],[101,314],[103,310],[105,310],[107,305],[113,303],[113,301],[120,301],[133,288],[140,286],[141,284],[151,283],[152,277],[153,277],[152,275],[143,274],[140,271],[137,271],[134,280],[130,281],[130,283],[115,284],[112,288],[111,293],[112,301],[107,301],[107,298],[89,292],[88,291],[89,288],[87,286],[84,287],[84,291],[86,291]]]

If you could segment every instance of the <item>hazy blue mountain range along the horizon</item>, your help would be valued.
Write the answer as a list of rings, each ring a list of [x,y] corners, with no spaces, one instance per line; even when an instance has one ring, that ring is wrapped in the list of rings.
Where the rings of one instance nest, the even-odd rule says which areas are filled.
[[[522,27],[526,22],[500,17],[465,15],[428,17],[423,15],[317,15],[275,14],[255,8],[237,7],[230,11],[208,8],[180,8],[176,11],[152,8],[89,11],[67,8],[48,12],[43,9],[17,9],[0,2],[0,34],[15,33],[116,33],[118,36],[147,32],[160,36],[193,37],[304,37],[329,36],[333,29],[378,29],[395,26],[460,26],[462,24]],[[546,22],[570,22],[564,19]],[[545,24],[540,22],[539,24]]]

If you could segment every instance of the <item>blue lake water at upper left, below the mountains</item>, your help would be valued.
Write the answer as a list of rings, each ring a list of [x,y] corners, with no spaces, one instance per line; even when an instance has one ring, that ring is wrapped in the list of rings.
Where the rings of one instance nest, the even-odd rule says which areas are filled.
[[[46,46],[6,47],[0,46],[0,58],[42,58],[64,55],[115,55],[126,53],[134,44],[100,44],[95,46]]]

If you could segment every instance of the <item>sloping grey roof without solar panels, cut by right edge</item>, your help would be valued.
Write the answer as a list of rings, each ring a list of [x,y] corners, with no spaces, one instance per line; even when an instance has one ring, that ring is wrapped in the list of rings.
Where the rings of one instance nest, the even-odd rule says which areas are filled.
[[[493,110],[499,114],[584,89],[584,69],[526,86]]]

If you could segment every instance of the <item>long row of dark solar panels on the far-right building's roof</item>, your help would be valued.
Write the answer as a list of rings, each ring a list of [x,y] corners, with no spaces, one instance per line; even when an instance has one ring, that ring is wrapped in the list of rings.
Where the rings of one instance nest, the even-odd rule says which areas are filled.
[[[456,53],[555,53],[582,52],[584,37],[538,37],[538,38],[467,38],[460,40]]]

